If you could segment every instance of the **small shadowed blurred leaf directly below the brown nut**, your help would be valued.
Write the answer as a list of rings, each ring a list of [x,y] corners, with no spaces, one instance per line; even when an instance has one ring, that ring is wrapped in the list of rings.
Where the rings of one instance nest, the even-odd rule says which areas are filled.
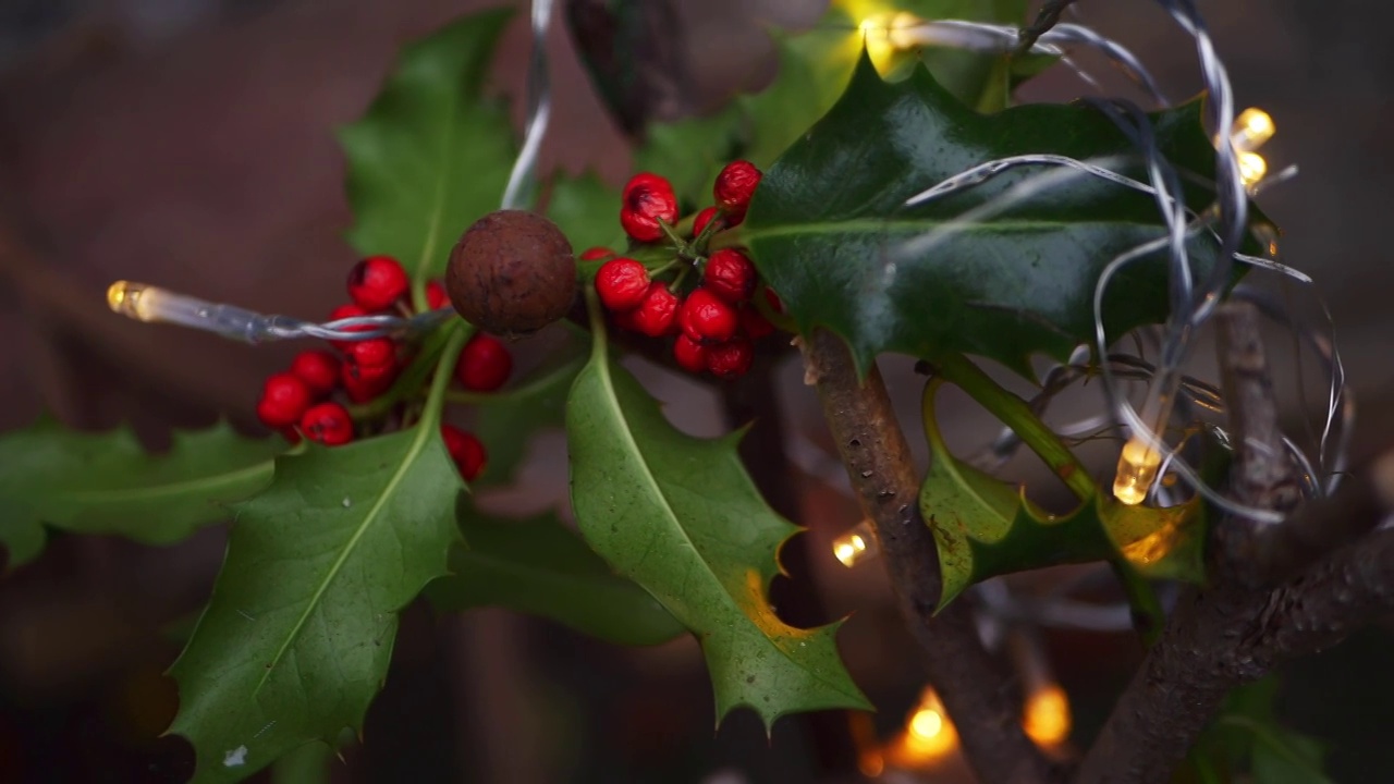
[[[567,340],[556,352],[566,359],[544,363],[516,388],[481,396],[474,403],[478,409],[474,432],[489,451],[489,463],[475,484],[512,483],[527,458],[533,434],[565,424],[566,393],[585,364],[581,350],[579,340]]]

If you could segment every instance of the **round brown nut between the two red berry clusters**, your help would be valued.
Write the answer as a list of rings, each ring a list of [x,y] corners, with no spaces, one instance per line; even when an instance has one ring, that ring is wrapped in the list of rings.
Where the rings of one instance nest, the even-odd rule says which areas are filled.
[[[450,251],[445,289],[454,310],[485,332],[535,332],[565,317],[576,300],[572,243],[541,215],[491,212]]]

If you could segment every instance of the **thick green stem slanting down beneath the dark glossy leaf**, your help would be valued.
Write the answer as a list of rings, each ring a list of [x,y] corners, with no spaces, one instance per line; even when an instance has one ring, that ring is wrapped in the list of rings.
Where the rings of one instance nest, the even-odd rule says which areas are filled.
[[[1083,463],[1051,428],[1046,427],[1046,423],[1032,412],[1026,400],[1004,389],[963,354],[945,353],[934,357],[930,363],[941,378],[967,392],[969,398],[977,400],[988,413],[1012,428],[1022,442],[1030,446],[1032,452],[1046,460],[1046,465],[1065,481],[1075,495],[1087,499],[1098,492]]]

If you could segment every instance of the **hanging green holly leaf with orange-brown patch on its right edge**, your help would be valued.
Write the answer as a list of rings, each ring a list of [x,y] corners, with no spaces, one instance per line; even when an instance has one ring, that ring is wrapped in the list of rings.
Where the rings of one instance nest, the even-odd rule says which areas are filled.
[[[592,329],[595,350],[566,406],[581,536],[701,640],[718,721],[742,704],[765,727],[788,713],[867,709],[838,657],[839,624],[796,629],[769,605],[779,545],[799,529],[760,497],[736,455],[739,434],[676,430],[609,359],[604,322],[592,318]]]

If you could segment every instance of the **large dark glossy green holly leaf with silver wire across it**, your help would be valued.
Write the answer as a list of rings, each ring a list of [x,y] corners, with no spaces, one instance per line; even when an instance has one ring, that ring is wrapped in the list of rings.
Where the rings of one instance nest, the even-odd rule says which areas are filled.
[[[1153,123],[1177,166],[1211,176],[1214,149],[1199,100],[1154,114]],[[861,368],[882,352],[931,361],[937,352],[959,352],[1032,378],[1033,353],[1064,360],[1094,339],[1103,268],[1164,229],[1151,197],[1080,176],[942,234],[933,248],[903,252],[903,241],[944,229],[1040,170],[1009,172],[917,208],[902,206],[907,198],[1020,153],[1086,159],[1132,155],[1132,145],[1085,106],[983,116],[924,68],[889,84],[863,59],[838,105],[765,173],[742,237],[799,329],[825,326],[843,336]],[[1185,195],[1193,208],[1210,201],[1193,184]],[[1197,236],[1189,250],[1203,275],[1218,244]],[[1104,296],[1108,338],[1164,321],[1167,292],[1163,254],[1124,269]]]

